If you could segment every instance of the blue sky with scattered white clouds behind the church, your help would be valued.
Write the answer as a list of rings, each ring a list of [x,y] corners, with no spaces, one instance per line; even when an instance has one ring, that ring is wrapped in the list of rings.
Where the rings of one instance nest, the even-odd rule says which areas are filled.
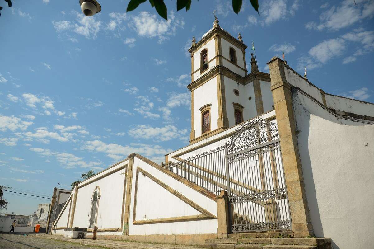
[[[239,15],[231,1],[193,1],[187,13],[166,1],[167,22],[149,3],[125,13],[128,1],[100,1],[86,18],[79,1],[63,2],[0,1],[0,185],[13,191],[50,196],[133,152],[160,163],[187,145],[186,50],[212,27],[213,10],[242,34],[247,62],[254,41],[261,71],[284,50],[325,92],[374,102],[373,0],[260,0],[260,16],[249,1]],[[48,202],[5,197],[5,212],[23,215]]]

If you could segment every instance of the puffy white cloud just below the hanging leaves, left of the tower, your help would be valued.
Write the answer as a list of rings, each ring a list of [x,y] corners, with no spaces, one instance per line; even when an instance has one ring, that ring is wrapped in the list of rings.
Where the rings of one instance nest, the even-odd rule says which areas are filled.
[[[133,27],[138,36],[154,38],[158,37],[158,43],[168,39],[168,36],[175,35],[177,28],[183,28],[184,21],[175,18],[174,12],[168,15],[168,21],[157,18],[157,15],[142,11],[132,18]]]

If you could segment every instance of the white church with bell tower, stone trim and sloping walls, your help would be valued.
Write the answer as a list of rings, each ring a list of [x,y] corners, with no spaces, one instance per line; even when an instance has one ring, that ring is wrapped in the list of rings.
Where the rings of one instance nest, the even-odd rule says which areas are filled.
[[[325,93],[277,57],[267,74],[251,56],[248,73],[245,49],[217,19],[193,39],[190,145],[166,165],[131,154],[80,182],[52,234],[97,227],[99,238],[197,245],[245,232],[374,245],[374,104]]]

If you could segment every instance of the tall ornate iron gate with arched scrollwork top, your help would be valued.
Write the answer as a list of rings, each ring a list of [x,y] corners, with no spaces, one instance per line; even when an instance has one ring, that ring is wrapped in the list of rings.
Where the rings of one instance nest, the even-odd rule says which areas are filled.
[[[234,233],[291,228],[276,123],[241,124],[226,144],[226,172]]]

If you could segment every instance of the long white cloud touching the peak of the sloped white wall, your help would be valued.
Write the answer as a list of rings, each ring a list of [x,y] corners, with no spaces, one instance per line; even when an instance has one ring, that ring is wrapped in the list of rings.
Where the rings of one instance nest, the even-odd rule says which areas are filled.
[[[126,159],[126,157],[131,153],[138,153],[156,163],[164,161],[164,155],[171,151],[160,145],[130,144],[122,146],[118,144],[105,144],[99,140],[86,142],[82,149],[105,153],[106,156],[116,161]]]

